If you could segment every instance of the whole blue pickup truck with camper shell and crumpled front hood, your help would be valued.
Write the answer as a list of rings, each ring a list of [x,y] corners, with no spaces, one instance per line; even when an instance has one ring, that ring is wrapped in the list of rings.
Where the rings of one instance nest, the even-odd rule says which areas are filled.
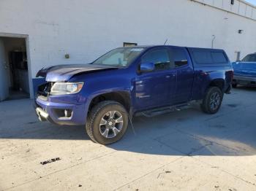
[[[214,114],[230,93],[233,67],[223,50],[174,46],[120,47],[93,63],[41,69],[39,120],[85,125],[92,141],[112,144],[135,115],[152,117],[198,101]]]

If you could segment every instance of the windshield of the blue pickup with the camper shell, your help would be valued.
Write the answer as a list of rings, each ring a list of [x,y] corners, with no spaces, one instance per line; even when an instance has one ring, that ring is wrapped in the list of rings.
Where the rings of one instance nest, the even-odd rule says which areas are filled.
[[[126,67],[135,60],[135,58],[143,52],[143,48],[139,47],[123,47],[111,50],[102,57],[98,58],[92,64],[107,65],[107,66],[117,66]]]

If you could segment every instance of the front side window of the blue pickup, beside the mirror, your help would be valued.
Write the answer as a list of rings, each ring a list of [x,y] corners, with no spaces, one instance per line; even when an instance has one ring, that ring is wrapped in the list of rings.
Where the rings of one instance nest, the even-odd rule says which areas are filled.
[[[171,69],[169,52],[167,49],[150,50],[141,58],[141,63],[154,63],[155,70]]]

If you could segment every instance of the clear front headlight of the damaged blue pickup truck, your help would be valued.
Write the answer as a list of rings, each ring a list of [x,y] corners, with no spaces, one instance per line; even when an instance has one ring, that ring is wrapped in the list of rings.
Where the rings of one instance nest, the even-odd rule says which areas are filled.
[[[83,82],[56,82],[50,89],[51,95],[67,95],[79,93],[82,90]]]

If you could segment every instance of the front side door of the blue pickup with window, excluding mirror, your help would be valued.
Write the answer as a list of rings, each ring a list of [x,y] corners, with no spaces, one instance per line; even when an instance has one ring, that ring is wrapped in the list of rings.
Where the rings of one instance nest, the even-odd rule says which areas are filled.
[[[170,104],[170,92],[176,86],[176,71],[170,62],[170,50],[158,47],[148,50],[140,63],[154,63],[155,71],[138,74],[135,80],[136,106],[138,109],[165,106]]]

